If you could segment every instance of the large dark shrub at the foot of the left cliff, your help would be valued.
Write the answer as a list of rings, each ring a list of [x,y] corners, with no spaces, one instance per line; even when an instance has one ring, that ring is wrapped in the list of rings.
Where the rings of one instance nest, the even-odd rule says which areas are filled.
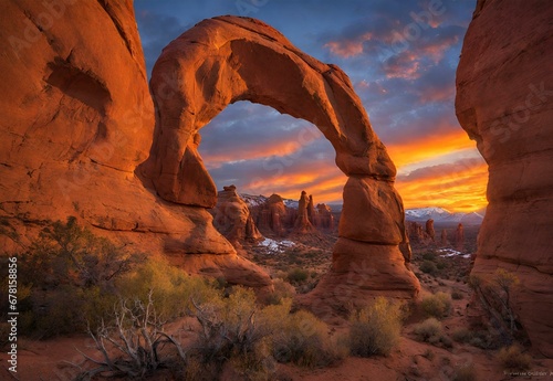
[[[75,218],[51,223],[18,255],[22,330],[46,338],[95,328],[113,310],[116,279],[142,261]]]

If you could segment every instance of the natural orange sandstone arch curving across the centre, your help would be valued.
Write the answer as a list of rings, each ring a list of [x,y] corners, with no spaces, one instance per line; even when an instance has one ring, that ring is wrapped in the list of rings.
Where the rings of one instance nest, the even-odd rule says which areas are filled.
[[[157,121],[145,169],[161,198],[213,207],[217,190],[197,150],[199,129],[238,100],[271,106],[321,129],[348,176],[333,267],[315,290],[317,299],[418,293],[406,266],[408,250],[399,251],[408,244],[395,166],[342,70],[301,52],[258,20],[218,17],[164,49],[150,89]]]

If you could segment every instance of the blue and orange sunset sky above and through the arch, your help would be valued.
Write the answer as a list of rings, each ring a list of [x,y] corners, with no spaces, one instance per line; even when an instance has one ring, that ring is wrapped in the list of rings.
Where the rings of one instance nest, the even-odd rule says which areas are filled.
[[[476,0],[135,0],[152,70],[161,49],[206,18],[261,19],[349,76],[397,166],[406,208],[486,207],[488,169],[455,116],[455,71]],[[200,131],[219,189],[340,203],[345,176],[315,126],[239,102]]]

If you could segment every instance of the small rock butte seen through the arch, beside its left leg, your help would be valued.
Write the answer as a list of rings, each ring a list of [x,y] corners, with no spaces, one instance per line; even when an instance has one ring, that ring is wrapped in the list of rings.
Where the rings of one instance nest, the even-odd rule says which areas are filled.
[[[237,193],[237,187],[223,187],[217,194],[213,209],[215,227],[229,240],[234,247],[244,242],[255,242],[263,236],[251,216],[248,204]]]

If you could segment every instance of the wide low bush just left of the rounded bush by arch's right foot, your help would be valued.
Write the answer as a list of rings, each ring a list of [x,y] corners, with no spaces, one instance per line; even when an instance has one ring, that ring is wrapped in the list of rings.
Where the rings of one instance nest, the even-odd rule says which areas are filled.
[[[290,314],[291,299],[263,308],[259,324],[268,329],[272,354],[279,362],[302,367],[324,367],[347,356],[341,337],[330,337],[328,327],[311,313]]]

